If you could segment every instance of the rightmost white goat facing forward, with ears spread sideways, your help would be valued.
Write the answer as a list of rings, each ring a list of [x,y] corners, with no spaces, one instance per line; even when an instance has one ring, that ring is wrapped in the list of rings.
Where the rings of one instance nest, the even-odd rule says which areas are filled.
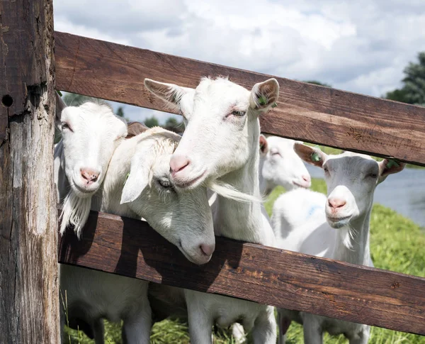
[[[373,266],[369,250],[373,192],[389,174],[401,171],[404,164],[387,159],[376,162],[367,155],[352,152],[326,155],[298,143],[295,152],[305,162],[323,168],[328,196],[324,201],[325,211],[315,213],[314,221],[307,221],[288,233],[282,248]],[[294,206],[299,205],[294,203]],[[303,324],[307,344],[322,343],[323,331],[331,335],[344,333],[350,344],[368,343],[370,326],[285,309],[278,309],[278,316],[280,344],[285,343],[284,335],[291,320]]]

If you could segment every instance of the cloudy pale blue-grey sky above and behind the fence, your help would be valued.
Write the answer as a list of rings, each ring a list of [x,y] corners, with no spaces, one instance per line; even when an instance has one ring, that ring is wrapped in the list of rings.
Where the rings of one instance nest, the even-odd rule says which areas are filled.
[[[55,30],[381,96],[425,50],[424,0],[54,0]],[[155,114],[125,106],[125,116]]]

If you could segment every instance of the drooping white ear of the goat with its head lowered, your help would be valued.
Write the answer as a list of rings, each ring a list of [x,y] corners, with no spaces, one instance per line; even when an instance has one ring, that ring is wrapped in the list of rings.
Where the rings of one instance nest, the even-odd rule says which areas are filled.
[[[123,187],[120,204],[129,203],[137,199],[145,187],[147,187],[147,184],[149,184],[152,170],[152,163],[149,161],[149,156],[149,150],[147,149],[140,150],[133,155],[130,173]]]

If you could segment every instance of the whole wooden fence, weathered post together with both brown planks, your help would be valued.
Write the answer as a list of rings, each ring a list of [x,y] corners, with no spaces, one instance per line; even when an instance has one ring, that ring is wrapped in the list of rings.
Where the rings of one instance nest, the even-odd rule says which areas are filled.
[[[52,152],[55,79],[56,89],[164,111],[145,77],[196,87],[200,77],[220,74],[246,88],[270,77],[59,32],[54,58],[51,10],[51,0],[0,0],[0,319],[12,315],[0,321],[0,343],[58,342],[50,245],[57,231],[45,231],[57,228],[55,191],[30,172],[32,179],[19,179],[29,162],[46,164],[51,178],[51,156],[37,145]],[[278,107],[261,118],[263,132],[425,165],[425,108],[276,79]],[[198,267],[146,223],[96,212],[82,241],[67,234],[58,244],[66,264],[425,335],[421,277],[227,238],[217,238],[212,260]]]

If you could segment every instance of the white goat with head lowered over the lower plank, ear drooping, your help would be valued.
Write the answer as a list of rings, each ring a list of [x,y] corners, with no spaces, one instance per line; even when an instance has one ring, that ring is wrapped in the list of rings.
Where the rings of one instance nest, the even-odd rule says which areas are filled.
[[[171,180],[169,161],[179,140],[175,133],[152,128],[120,143],[92,209],[146,218],[188,260],[204,264],[215,248],[207,189],[182,192]],[[61,265],[60,286],[67,291],[68,318],[86,323],[96,344],[104,343],[103,318],[124,321],[124,343],[149,343],[148,282]]]

